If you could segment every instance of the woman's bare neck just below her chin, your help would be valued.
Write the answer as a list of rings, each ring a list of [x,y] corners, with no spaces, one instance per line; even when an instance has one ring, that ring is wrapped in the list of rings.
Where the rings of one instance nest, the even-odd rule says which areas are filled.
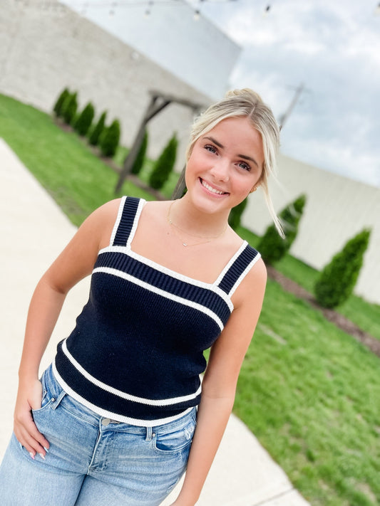
[[[185,195],[171,205],[170,220],[175,226],[190,235],[217,238],[227,228],[228,212],[208,214],[194,206]]]

